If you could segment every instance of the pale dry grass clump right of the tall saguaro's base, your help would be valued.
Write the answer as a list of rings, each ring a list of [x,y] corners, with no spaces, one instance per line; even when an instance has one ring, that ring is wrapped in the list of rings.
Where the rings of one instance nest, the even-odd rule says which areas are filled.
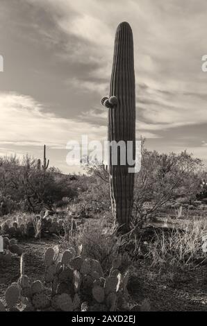
[[[155,239],[149,243],[146,257],[152,266],[196,266],[206,259],[203,250],[207,223],[201,219],[182,221],[181,228],[171,232],[155,233]]]

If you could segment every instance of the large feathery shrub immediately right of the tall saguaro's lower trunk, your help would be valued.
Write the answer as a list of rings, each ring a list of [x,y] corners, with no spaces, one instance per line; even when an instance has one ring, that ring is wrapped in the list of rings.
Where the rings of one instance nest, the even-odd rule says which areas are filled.
[[[142,227],[170,200],[195,198],[201,167],[201,160],[186,151],[166,155],[142,146],[141,170],[135,175],[133,223]]]

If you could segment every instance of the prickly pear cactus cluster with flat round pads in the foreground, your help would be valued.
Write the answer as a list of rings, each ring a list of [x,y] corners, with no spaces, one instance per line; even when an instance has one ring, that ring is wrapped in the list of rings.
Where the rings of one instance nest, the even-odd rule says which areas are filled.
[[[0,302],[0,311],[17,311],[20,301],[23,311],[116,311],[127,286],[117,269],[120,264],[120,259],[115,259],[106,276],[99,261],[76,256],[73,248],[63,254],[57,246],[48,248],[44,282],[31,282],[21,268],[18,282],[6,290],[7,306]]]

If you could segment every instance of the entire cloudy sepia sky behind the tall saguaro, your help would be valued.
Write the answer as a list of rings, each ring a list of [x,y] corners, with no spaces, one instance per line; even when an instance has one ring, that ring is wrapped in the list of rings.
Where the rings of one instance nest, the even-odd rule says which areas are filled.
[[[104,139],[115,29],[131,24],[137,138],[207,162],[206,0],[1,0],[0,155],[42,157],[65,173],[65,146]]]

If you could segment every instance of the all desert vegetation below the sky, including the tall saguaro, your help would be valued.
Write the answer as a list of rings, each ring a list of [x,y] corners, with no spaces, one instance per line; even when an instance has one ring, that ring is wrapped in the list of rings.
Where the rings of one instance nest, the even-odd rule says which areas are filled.
[[[110,141],[135,154],[133,35],[117,28]],[[187,151],[64,175],[40,159],[1,157],[0,311],[206,311],[206,171]],[[120,155],[118,155],[120,159]]]

